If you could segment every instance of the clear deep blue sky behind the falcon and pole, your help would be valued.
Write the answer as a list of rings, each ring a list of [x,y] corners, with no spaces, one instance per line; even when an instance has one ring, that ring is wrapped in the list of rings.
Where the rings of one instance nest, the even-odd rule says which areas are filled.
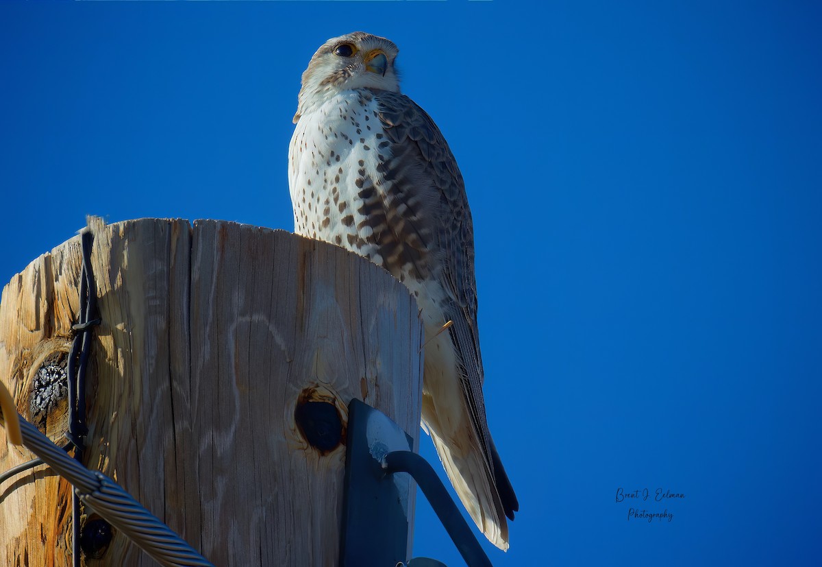
[[[2,3],[0,281],[89,213],[292,229],[300,73],[330,37],[385,35],[473,210],[487,410],[521,510],[494,565],[812,565],[820,12]],[[620,487],[685,498],[629,521]],[[422,499],[414,551],[462,565]]]

